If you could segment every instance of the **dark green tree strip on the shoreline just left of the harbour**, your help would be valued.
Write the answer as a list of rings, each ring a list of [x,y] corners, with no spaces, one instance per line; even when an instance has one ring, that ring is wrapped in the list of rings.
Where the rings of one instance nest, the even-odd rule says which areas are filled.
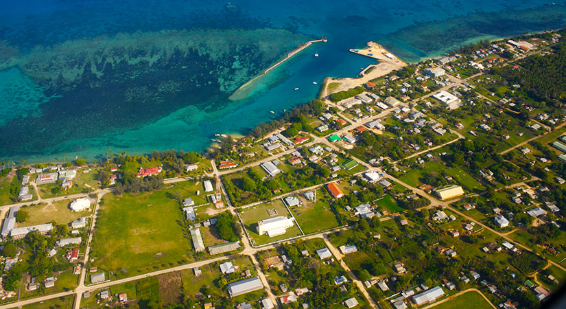
[[[324,111],[324,102],[320,100],[311,100],[307,104],[302,104],[300,106],[292,108],[280,119],[274,119],[268,123],[262,122],[261,124],[255,126],[255,128],[252,128],[252,130],[250,130],[250,135],[252,135],[253,137],[262,137],[263,135],[270,133],[276,128],[280,128],[281,126],[284,126],[289,122],[301,122],[303,124],[303,130],[305,130],[305,128],[308,128],[308,126],[305,126],[305,124],[307,123],[304,121],[304,119],[306,119],[306,116],[320,116]]]

